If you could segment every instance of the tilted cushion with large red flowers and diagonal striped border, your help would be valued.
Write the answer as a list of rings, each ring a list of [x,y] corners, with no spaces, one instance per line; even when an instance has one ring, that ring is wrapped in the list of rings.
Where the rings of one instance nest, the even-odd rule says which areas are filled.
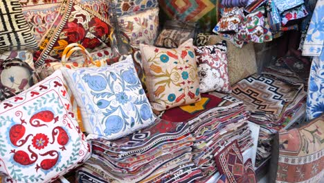
[[[82,44],[89,52],[106,49],[111,45],[111,32],[109,19],[75,0],[64,0],[34,54],[35,66],[46,60],[61,60],[64,48],[71,43]]]

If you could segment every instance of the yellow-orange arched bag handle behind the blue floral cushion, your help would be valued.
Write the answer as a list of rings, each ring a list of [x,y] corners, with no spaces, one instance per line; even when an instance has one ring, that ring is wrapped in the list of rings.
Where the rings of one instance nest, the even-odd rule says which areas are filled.
[[[68,46],[66,46],[66,48],[64,49],[64,51],[62,53],[62,65],[64,67],[66,66],[66,62],[69,60],[69,58],[75,51],[82,52],[82,55],[84,57],[83,67],[88,67],[89,62],[91,62],[91,64],[93,64],[93,65],[96,65],[96,62],[93,62],[93,58],[91,57],[91,55],[87,51],[87,49],[84,48],[84,46],[82,46],[81,44],[78,44],[78,43],[72,43],[72,44],[69,44]]]

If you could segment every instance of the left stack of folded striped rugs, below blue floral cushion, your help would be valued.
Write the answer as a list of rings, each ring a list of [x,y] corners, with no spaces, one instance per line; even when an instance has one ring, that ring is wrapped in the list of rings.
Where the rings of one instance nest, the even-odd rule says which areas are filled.
[[[93,171],[107,182],[192,182],[201,177],[191,160],[194,141],[189,125],[165,120],[116,141],[94,139],[78,176]]]

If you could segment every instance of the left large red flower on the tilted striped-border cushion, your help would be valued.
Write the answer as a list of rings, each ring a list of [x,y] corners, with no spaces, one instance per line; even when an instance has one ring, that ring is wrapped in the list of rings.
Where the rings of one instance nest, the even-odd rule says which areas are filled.
[[[69,22],[66,24],[67,28],[64,28],[65,36],[69,43],[78,42],[83,40],[85,37],[85,30],[80,24],[75,24],[74,22]]]

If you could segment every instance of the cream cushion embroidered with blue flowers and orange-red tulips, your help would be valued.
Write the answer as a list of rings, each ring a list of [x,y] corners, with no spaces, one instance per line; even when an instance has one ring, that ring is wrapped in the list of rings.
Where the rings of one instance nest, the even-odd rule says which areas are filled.
[[[177,49],[140,44],[146,87],[152,107],[163,111],[200,100],[192,39]]]

